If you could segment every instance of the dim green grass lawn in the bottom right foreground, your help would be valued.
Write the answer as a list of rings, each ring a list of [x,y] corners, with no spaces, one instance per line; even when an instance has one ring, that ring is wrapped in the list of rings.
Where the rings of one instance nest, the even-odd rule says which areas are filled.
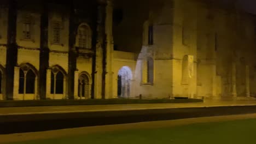
[[[256,143],[256,119],[219,123],[199,123],[171,128],[114,131],[60,139],[16,142],[15,144],[133,144],[133,143]],[[68,135],[68,134],[67,134]]]

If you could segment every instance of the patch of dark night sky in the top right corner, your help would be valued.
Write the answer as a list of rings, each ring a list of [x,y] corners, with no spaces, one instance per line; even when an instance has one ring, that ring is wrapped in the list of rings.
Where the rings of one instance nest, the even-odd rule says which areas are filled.
[[[241,8],[256,15],[256,0],[238,0]]]

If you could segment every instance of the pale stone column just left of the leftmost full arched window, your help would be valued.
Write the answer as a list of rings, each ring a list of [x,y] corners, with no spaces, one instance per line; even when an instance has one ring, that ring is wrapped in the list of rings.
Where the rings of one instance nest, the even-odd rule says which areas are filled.
[[[13,87],[13,99],[21,100],[19,98],[19,80],[20,80],[20,67],[14,67],[14,87]]]

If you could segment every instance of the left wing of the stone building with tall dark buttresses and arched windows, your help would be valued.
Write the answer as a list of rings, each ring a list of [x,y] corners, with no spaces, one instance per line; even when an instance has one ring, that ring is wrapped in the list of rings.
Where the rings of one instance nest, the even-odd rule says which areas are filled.
[[[1,1],[0,11],[0,99],[110,97],[111,1]]]

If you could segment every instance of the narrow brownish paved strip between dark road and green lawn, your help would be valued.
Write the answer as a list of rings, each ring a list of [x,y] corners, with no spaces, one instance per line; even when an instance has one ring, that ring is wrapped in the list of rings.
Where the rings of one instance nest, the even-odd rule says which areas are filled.
[[[177,119],[177,120],[171,120],[171,121],[154,121],[154,122],[142,122],[142,123],[131,123],[131,124],[102,125],[102,126],[95,126],[95,127],[40,131],[35,133],[8,134],[8,135],[0,135],[0,143],[42,140],[42,139],[57,139],[57,138],[67,137],[67,136],[106,133],[109,131],[155,129],[155,128],[175,127],[179,125],[188,125],[188,124],[194,124],[194,123],[225,122],[225,121],[233,121],[238,119],[251,119],[251,118],[256,118],[256,114],[188,118],[188,119]]]

